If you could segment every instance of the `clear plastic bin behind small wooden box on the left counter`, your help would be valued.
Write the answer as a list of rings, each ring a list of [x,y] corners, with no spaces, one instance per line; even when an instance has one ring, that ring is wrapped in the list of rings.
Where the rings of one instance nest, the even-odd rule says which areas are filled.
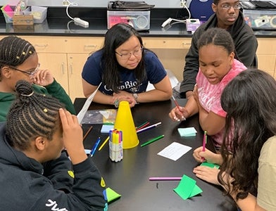
[[[25,11],[20,12],[5,12],[4,18],[6,23],[13,23],[13,15],[33,15],[34,23],[42,23],[47,16],[47,8],[42,6],[31,6],[28,7]]]

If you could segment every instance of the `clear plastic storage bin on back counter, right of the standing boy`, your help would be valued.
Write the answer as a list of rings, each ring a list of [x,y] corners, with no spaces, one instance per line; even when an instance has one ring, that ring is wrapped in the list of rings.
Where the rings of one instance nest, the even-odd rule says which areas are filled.
[[[276,9],[244,9],[243,13],[253,30],[276,30]]]

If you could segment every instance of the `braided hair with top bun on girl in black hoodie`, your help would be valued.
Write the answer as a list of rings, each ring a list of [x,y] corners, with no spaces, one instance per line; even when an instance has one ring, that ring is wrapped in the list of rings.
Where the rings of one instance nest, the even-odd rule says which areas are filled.
[[[58,110],[64,106],[56,98],[35,93],[25,80],[19,80],[15,90],[17,96],[6,122],[9,144],[24,151],[30,146],[30,140],[38,136],[52,140],[61,128]]]

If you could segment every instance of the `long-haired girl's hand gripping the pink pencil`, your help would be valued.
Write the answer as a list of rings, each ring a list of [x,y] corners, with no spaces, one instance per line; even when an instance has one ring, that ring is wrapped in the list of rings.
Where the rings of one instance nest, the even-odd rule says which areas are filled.
[[[205,151],[202,151],[202,150],[203,150],[202,146],[194,150],[193,156],[197,162],[206,161],[206,162],[211,162],[218,165],[221,164],[222,157],[220,154],[213,153],[208,149],[205,149]]]

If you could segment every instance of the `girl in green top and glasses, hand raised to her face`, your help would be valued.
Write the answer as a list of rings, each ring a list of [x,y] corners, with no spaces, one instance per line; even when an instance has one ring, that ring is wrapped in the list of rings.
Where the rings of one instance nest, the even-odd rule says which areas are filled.
[[[25,39],[8,36],[0,40],[0,122],[6,121],[8,110],[15,100],[15,84],[19,79],[32,83],[37,93],[58,98],[70,113],[75,114],[70,97],[51,72],[39,69],[35,47]]]

